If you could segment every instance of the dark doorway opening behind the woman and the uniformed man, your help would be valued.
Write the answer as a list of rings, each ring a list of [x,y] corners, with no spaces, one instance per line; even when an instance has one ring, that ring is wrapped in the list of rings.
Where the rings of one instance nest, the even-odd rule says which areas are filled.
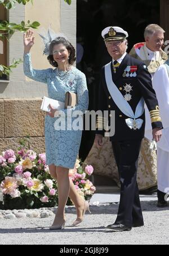
[[[160,23],[160,0],[77,1],[77,68],[87,78],[89,110],[97,106],[100,69],[111,61],[101,31],[110,25],[122,27],[129,34],[129,52],[134,44],[144,42],[144,29],[150,23]],[[94,137],[91,131],[83,132],[79,154],[82,160],[90,152]]]

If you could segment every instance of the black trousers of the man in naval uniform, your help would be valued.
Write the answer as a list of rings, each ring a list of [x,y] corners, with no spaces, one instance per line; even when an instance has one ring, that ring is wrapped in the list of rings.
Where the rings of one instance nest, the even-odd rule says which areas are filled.
[[[124,224],[127,227],[144,225],[137,186],[137,166],[141,141],[142,139],[112,142],[121,181],[121,200],[115,223]]]

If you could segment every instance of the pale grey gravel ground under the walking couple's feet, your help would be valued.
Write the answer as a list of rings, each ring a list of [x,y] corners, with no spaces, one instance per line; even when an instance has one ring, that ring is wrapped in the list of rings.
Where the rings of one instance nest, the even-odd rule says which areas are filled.
[[[71,227],[75,214],[67,213],[62,231],[49,231],[54,216],[45,219],[0,219],[1,245],[167,245],[169,208],[159,209],[156,202],[142,202],[145,226],[131,232],[112,232],[106,225],[115,220],[118,204],[91,206],[79,227]]]

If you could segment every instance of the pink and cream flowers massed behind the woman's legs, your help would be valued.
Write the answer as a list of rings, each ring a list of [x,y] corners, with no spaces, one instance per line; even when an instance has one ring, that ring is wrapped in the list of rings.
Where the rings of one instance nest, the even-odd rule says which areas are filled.
[[[77,160],[70,170],[78,193],[85,199],[95,191],[87,180],[93,172],[91,166],[83,168]],[[55,207],[58,203],[57,182],[52,180],[45,153],[20,147],[15,153],[7,150],[0,155],[0,209],[18,210],[24,208]],[[68,202],[69,203],[69,202]]]

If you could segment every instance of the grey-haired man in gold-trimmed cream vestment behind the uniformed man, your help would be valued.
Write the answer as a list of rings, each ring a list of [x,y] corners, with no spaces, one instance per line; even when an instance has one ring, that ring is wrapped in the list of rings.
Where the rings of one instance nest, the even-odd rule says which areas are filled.
[[[145,42],[134,45],[130,52],[132,57],[140,59],[146,64],[152,79],[158,67],[163,65],[168,59],[167,54],[162,50],[164,32],[163,28],[157,24],[148,25],[144,31]],[[152,138],[151,140],[145,138],[142,142],[137,172],[140,184],[139,189],[144,191],[148,189],[149,192],[153,192],[157,186],[157,156],[156,151],[150,150],[151,142]]]

